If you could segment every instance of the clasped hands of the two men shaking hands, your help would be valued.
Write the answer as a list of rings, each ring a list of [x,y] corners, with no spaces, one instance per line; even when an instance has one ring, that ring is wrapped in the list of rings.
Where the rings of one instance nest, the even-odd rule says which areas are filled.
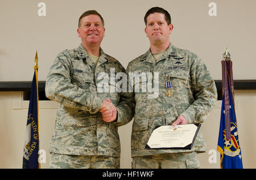
[[[111,100],[103,100],[99,112],[102,114],[103,121],[112,122],[117,118],[117,108],[112,104]]]

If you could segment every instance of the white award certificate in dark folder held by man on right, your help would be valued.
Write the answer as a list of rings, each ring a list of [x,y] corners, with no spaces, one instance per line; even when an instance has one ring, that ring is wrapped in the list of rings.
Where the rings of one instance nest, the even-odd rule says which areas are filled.
[[[201,124],[158,126],[145,149],[191,149]]]

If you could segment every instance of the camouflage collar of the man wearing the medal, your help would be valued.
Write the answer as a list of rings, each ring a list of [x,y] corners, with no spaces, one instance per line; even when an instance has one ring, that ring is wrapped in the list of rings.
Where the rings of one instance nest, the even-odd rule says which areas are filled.
[[[180,55],[177,53],[177,48],[170,43],[168,48],[166,49],[166,52],[163,53],[162,57],[160,57],[159,61],[162,59],[168,59],[168,57],[180,57]],[[155,59],[152,56],[151,50],[148,49],[148,51],[143,55],[141,58],[141,61],[146,60],[146,62],[155,63]]]

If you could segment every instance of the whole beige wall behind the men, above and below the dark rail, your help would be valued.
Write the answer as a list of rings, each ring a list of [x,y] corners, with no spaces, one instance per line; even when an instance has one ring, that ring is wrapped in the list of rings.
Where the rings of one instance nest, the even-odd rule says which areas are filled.
[[[40,2],[46,5],[45,9],[38,7]],[[214,6],[209,7],[212,2]],[[46,80],[56,55],[80,45],[78,19],[84,11],[92,9],[100,12],[105,20],[102,41],[105,53],[127,67],[131,59],[149,48],[143,17],[153,6],[170,12],[174,24],[172,44],[199,55],[214,79],[221,79],[221,59],[226,47],[232,55],[234,79],[256,79],[255,0],[1,0],[0,82],[31,81],[36,50],[39,80]],[[44,12],[46,15],[41,16]],[[212,12],[216,16],[211,16]],[[256,91],[235,91],[235,96],[243,166],[256,168]],[[220,154],[216,152],[220,106],[218,101],[201,127],[210,152],[198,155],[201,168],[220,168]],[[49,167],[48,146],[56,107],[54,101],[39,102],[40,149],[46,151],[42,168]],[[22,168],[27,111],[28,101],[23,101],[22,92],[0,92],[0,168]],[[121,168],[131,168],[131,123],[119,127]]]

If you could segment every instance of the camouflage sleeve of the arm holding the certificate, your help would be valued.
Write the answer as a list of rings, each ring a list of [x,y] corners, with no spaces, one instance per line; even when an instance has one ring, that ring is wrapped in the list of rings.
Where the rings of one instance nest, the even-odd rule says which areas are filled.
[[[201,123],[217,101],[217,89],[204,62],[195,54],[192,56],[190,77],[195,101],[181,115],[188,123]]]

